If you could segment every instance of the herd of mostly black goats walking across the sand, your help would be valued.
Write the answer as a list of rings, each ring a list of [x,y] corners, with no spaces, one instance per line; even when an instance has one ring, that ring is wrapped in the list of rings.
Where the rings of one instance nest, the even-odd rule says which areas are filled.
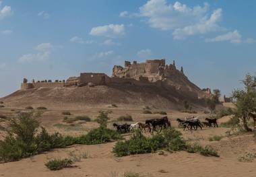
[[[177,118],[179,122],[179,126],[183,127],[183,130],[186,129],[192,131],[197,130],[198,127],[202,129],[202,127],[218,127],[216,118],[205,118],[205,122],[201,122],[198,118],[185,118],[185,120],[181,120]],[[150,133],[154,133],[154,131],[162,131],[162,129],[166,129],[167,127],[171,127],[170,120],[168,120],[167,116],[162,118],[152,118],[150,120],[146,120],[145,123],[136,122],[134,124],[123,124],[118,125],[117,123],[113,124],[113,127],[117,129],[117,131],[121,133],[128,133],[130,131],[135,131],[136,129],[140,131],[148,131]]]

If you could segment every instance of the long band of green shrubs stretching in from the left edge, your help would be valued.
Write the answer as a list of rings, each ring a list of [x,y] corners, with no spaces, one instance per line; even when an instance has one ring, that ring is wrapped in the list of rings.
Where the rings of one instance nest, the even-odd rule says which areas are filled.
[[[122,138],[116,131],[106,129],[106,122],[102,120],[107,118],[105,112],[101,112],[98,116],[100,122],[98,129],[93,129],[79,137],[63,136],[60,133],[49,134],[44,127],[41,127],[39,132],[40,123],[36,120],[38,116],[40,114],[37,112],[23,112],[8,120],[6,127],[8,135],[0,141],[0,162],[17,161],[75,143],[92,145]]]

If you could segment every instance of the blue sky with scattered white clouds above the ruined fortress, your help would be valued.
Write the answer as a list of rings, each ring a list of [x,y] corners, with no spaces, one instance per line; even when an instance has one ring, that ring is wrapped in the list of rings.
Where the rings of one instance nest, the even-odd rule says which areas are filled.
[[[26,77],[111,75],[113,65],[175,60],[230,96],[256,71],[256,1],[0,0],[0,97]]]

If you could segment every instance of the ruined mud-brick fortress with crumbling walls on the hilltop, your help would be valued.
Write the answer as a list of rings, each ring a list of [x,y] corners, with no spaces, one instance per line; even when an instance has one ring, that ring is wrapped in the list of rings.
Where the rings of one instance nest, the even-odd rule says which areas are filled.
[[[186,92],[193,98],[207,95],[195,84],[191,83],[183,72],[183,67],[178,70],[175,62],[166,65],[165,59],[147,60],[145,63],[125,61],[125,67],[115,65],[112,77],[104,73],[80,73],[79,77],[69,77],[67,80],[43,80],[28,83],[24,79],[21,90],[37,87],[82,87],[88,85],[155,85],[157,87],[172,87],[179,92]]]

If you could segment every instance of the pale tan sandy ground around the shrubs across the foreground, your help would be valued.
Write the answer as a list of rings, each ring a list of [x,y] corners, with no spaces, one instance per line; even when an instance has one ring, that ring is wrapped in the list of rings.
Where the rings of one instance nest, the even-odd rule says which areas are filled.
[[[113,113],[109,114],[108,127],[112,128],[113,122],[120,116],[131,114],[134,122],[144,121],[148,118],[161,117],[160,114],[142,114],[141,108],[108,108]],[[99,109],[72,110],[72,116],[88,115],[92,119],[96,118]],[[177,118],[185,116],[199,116],[204,119],[208,114],[185,114],[174,110],[165,110],[172,126],[177,127]],[[0,109],[0,114],[15,114],[17,110]],[[90,129],[98,127],[95,122],[86,122],[73,128],[58,127],[63,124],[63,114],[61,110],[47,110],[39,118],[41,124],[51,133],[59,131],[65,135],[81,135]],[[219,121],[226,122],[229,117],[224,117]],[[0,125],[4,124],[0,122]],[[178,128],[177,128],[178,129]],[[149,153],[142,155],[130,155],[127,157],[115,157],[111,152],[115,142],[102,145],[73,145],[64,149],[54,149],[40,155],[20,160],[0,164],[0,176],[123,176],[125,172],[138,172],[141,176],[256,176],[256,160],[254,162],[238,162],[238,157],[246,152],[256,152],[255,137],[251,134],[226,136],[230,129],[203,128],[198,131],[183,131],[183,137],[187,141],[198,142],[201,145],[212,145],[220,157],[205,157],[197,153],[187,153],[185,151],[169,153],[164,155]],[[0,139],[4,137],[0,131]],[[214,135],[222,136],[220,141],[209,141],[209,137]],[[65,168],[60,171],[50,171],[45,166],[48,160],[53,157],[70,157],[71,153],[77,156],[86,154],[87,158],[82,158],[81,162],[76,162],[73,168]]]

